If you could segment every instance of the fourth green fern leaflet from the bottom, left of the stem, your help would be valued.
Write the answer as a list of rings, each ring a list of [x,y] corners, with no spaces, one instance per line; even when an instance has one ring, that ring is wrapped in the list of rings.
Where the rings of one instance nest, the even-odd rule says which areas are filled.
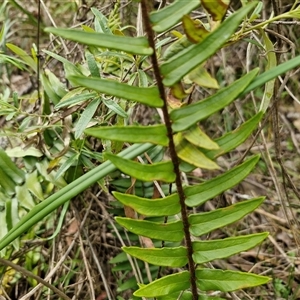
[[[147,199],[118,192],[113,192],[113,195],[124,205],[145,216],[172,216],[180,212],[178,194],[160,199]]]

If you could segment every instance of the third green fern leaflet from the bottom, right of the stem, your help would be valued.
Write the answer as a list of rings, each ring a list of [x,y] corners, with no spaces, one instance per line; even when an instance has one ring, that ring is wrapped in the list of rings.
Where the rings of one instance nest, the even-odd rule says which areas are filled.
[[[236,222],[256,209],[264,199],[254,198],[207,213],[192,214],[189,216],[190,232],[194,236],[200,236]]]

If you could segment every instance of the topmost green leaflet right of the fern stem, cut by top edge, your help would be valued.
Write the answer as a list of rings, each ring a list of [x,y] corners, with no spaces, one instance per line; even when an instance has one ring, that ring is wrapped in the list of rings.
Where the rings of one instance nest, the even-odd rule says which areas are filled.
[[[176,0],[161,10],[150,14],[152,28],[156,32],[163,32],[178,23],[183,15],[200,6],[199,0]]]

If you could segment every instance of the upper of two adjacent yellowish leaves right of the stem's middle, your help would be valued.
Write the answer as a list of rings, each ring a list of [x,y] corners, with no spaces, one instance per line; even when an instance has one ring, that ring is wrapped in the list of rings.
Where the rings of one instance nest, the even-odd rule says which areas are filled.
[[[183,132],[183,137],[197,147],[215,150],[219,145],[210,139],[199,126],[193,126],[188,131]]]

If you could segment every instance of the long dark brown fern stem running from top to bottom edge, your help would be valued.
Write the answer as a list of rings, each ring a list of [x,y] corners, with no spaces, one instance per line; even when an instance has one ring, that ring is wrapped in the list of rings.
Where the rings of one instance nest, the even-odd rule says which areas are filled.
[[[196,269],[195,269],[195,265],[194,265],[194,261],[193,261],[193,257],[192,257],[192,255],[193,255],[192,240],[191,240],[191,235],[190,235],[190,231],[189,231],[188,213],[187,213],[187,209],[186,209],[186,205],[185,205],[185,195],[184,195],[184,191],[183,191],[181,175],[180,175],[180,170],[179,170],[179,159],[178,159],[176,149],[175,149],[172,123],[171,123],[171,119],[170,119],[169,112],[168,112],[167,97],[165,94],[165,88],[164,88],[164,85],[162,82],[162,77],[161,77],[159,65],[158,65],[158,59],[157,59],[156,51],[155,51],[154,32],[152,30],[150,18],[149,18],[148,1],[142,0],[141,5],[142,5],[142,18],[143,18],[145,31],[148,36],[149,45],[153,49],[153,54],[151,55],[151,61],[152,61],[154,77],[156,79],[156,84],[159,89],[160,97],[164,102],[164,105],[162,107],[162,112],[163,112],[163,116],[164,116],[165,125],[167,128],[167,135],[169,138],[170,157],[173,162],[174,172],[176,174],[175,184],[176,184],[177,193],[179,195],[180,206],[181,206],[181,217],[182,217],[183,230],[184,230],[184,236],[185,236],[185,245],[187,247],[187,253],[188,253],[188,267],[189,267],[189,272],[190,272],[191,291],[192,291],[193,300],[197,300],[198,299],[198,291],[197,291],[197,285],[196,285]]]

